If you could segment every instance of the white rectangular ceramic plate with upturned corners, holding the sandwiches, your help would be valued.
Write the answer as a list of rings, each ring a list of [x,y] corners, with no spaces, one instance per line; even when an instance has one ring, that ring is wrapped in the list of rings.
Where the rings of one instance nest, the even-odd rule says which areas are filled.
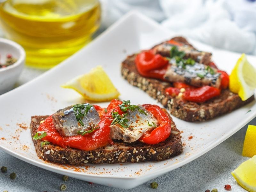
[[[30,124],[30,117],[51,115],[60,108],[84,102],[78,93],[63,89],[60,85],[97,65],[103,66],[121,93],[120,100],[131,100],[133,104],[157,104],[156,100],[122,78],[120,63],[128,54],[150,48],[172,36],[174,36],[172,32],[145,16],[136,12],[129,13],[59,66],[1,95],[0,148],[38,167],[80,180],[119,188],[138,186],[187,164],[214,148],[256,116],[254,101],[232,113],[207,122],[189,123],[174,117],[177,128],[183,131],[184,151],[181,155],[168,160],[135,164],[88,164],[75,167],[44,162],[36,156],[30,130],[26,129]],[[199,50],[212,52],[213,60],[228,73],[240,56],[238,53],[214,49],[192,40],[190,42]],[[256,57],[248,56],[248,59],[251,63],[256,63]],[[99,105],[105,107],[108,103]],[[249,110],[251,112],[248,112]],[[188,140],[189,136],[193,136],[193,139]]]

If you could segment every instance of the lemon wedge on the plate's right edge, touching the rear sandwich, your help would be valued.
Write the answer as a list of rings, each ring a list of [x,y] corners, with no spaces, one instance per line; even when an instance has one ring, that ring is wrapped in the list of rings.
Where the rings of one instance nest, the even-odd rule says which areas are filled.
[[[249,99],[256,88],[255,77],[256,69],[248,62],[243,53],[229,76],[230,91],[238,93],[243,101]]]

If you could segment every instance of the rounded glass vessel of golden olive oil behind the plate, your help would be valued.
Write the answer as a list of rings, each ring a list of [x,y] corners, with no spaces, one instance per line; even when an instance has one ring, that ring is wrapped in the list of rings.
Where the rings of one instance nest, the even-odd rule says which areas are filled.
[[[75,53],[100,26],[98,0],[6,0],[0,20],[7,38],[24,47],[26,64],[51,68]]]

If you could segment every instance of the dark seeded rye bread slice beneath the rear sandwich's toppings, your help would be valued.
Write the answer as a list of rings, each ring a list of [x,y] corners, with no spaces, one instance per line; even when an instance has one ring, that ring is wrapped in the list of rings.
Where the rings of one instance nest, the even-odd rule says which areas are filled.
[[[184,39],[184,38],[183,38]],[[143,77],[137,71],[133,54],[128,56],[121,64],[121,73],[133,86],[137,86],[147,92],[149,96],[158,100],[175,117],[185,121],[205,121],[222,114],[229,113],[252,100],[254,97],[242,101],[240,97],[229,89],[221,91],[220,96],[212,98],[204,103],[195,103],[172,97],[165,93],[165,88],[172,86],[171,83],[161,80]]]

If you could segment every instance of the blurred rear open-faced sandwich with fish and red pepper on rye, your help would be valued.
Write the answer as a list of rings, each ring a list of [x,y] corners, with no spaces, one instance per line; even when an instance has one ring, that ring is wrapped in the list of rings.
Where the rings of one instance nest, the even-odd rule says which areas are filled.
[[[205,121],[246,103],[228,89],[229,76],[183,37],[174,37],[150,50],[128,56],[122,76],[147,92],[185,121]]]

